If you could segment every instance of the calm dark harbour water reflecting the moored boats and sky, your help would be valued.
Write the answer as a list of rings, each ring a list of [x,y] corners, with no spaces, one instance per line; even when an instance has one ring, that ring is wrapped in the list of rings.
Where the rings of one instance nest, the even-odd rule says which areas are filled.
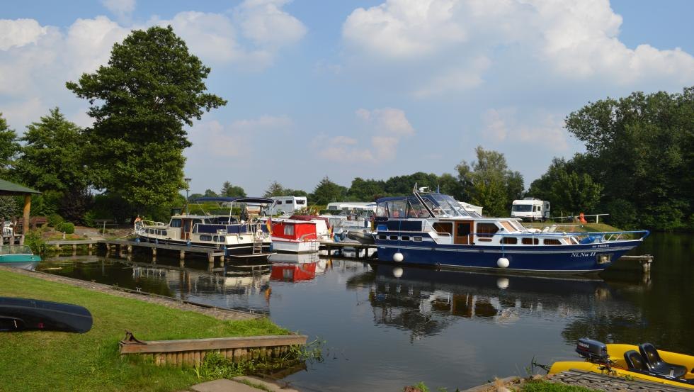
[[[576,359],[584,336],[694,354],[694,235],[656,233],[635,251],[654,254],[650,276],[496,276],[317,257],[213,272],[206,261],[181,270],[161,257],[54,257],[38,269],[266,313],[325,341],[324,362],[285,378],[303,391],[402,391],[419,381],[454,391],[525,376],[533,358]]]

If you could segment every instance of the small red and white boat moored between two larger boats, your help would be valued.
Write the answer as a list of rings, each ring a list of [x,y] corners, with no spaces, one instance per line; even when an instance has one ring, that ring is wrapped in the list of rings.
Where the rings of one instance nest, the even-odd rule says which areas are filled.
[[[273,252],[318,252],[320,246],[317,224],[312,220],[268,220],[272,228]]]

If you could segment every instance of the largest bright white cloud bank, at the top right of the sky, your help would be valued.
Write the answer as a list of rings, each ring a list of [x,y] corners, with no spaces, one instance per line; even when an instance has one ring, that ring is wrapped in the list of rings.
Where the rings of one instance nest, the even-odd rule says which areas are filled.
[[[418,97],[480,86],[493,67],[540,69],[543,82],[694,82],[692,55],[627,47],[621,24],[608,0],[386,0],[355,9],[342,36],[353,65],[407,69],[399,81]]]

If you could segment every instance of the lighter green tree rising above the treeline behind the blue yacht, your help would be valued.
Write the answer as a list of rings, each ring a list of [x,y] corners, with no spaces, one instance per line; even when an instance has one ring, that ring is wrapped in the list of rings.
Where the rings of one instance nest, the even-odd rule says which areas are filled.
[[[462,196],[467,196],[465,201],[482,206],[489,215],[508,215],[513,199],[523,194],[523,176],[508,169],[501,152],[479,146],[475,153],[477,161],[462,161],[455,167],[465,189]]]

